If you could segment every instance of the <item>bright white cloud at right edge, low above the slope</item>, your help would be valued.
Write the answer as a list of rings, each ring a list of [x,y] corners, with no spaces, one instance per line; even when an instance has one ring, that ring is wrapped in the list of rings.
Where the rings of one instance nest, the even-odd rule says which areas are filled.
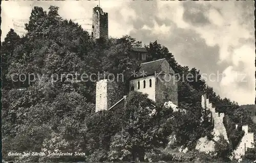
[[[221,87],[225,88],[223,94],[231,99],[239,99],[244,104],[251,103],[255,97],[254,51],[255,48],[246,44],[234,49],[231,58],[233,66],[223,71],[226,77],[221,81]]]

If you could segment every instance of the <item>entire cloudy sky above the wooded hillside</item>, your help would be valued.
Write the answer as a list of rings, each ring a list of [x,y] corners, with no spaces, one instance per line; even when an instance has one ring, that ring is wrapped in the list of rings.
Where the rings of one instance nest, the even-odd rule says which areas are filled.
[[[98,1],[2,1],[2,36],[22,35],[34,6],[59,7],[59,15],[91,30]],[[197,68],[221,98],[242,104],[255,99],[253,1],[101,0],[109,36],[130,35],[143,44],[166,46],[182,66]],[[90,31],[89,31],[90,32]]]

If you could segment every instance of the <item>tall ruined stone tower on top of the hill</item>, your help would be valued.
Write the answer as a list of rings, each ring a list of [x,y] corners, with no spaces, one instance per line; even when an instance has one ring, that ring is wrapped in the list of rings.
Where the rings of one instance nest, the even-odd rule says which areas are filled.
[[[93,8],[92,37],[93,39],[109,37],[108,13],[103,12],[98,5]]]

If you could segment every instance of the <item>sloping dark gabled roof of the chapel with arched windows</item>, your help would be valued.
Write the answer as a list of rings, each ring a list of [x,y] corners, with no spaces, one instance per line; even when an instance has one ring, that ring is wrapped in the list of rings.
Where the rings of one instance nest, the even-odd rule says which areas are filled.
[[[160,71],[160,66],[164,61],[166,61],[165,58],[141,63],[139,67],[135,70],[135,72],[137,72],[137,76],[132,76],[131,78],[141,78],[154,75],[155,72],[158,73]]]

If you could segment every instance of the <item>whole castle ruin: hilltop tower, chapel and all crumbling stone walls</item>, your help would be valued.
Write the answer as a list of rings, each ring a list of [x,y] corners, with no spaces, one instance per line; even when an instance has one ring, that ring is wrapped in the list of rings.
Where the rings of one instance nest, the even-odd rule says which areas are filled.
[[[103,12],[100,7],[93,9],[92,16],[92,38],[108,38],[108,13]],[[136,58],[141,63],[137,69],[137,76],[133,76],[129,80],[130,91],[140,91],[147,94],[148,98],[155,101],[171,101],[173,105],[178,105],[178,85],[175,82],[174,71],[165,59],[146,62],[147,51],[142,47],[132,47],[130,50],[131,57]],[[143,72],[145,74],[143,74]],[[168,79],[166,81],[166,75]],[[125,96],[123,94],[124,87],[117,84],[116,81],[108,79],[100,80],[96,83],[96,109],[95,113],[100,110],[109,110],[117,106],[123,106]],[[202,96],[201,106],[203,109],[211,112],[211,118],[214,120],[213,140],[208,140],[207,136],[201,137],[196,145],[196,149],[201,152],[214,152],[215,142],[223,135],[229,143],[225,126],[223,124],[224,113],[216,112],[215,107],[206,99],[206,95]],[[237,125],[236,125],[237,128]],[[245,131],[239,145],[232,153],[232,158],[239,161],[245,155],[248,148],[254,148],[254,134],[248,132],[248,125],[242,126]]]

